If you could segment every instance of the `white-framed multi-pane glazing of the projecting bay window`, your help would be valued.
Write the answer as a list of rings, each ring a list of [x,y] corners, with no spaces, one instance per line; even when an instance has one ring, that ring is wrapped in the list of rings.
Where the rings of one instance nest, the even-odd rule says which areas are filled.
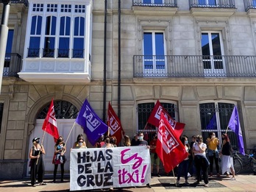
[[[84,4],[33,4],[27,57],[84,58]]]

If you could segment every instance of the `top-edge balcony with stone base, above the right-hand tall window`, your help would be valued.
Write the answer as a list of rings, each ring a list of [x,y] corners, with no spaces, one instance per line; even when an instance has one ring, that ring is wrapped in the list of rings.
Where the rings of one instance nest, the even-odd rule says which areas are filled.
[[[230,17],[235,13],[235,0],[189,0],[191,14],[195,16]]]

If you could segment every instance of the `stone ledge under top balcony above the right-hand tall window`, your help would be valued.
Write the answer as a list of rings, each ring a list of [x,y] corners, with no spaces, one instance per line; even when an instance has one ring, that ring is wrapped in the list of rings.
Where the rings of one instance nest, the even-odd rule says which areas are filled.
[[[194,16],[220,16],[230,17],[236,12],[235,8],[206,8],[206,7],[193,7],[191,14]]]

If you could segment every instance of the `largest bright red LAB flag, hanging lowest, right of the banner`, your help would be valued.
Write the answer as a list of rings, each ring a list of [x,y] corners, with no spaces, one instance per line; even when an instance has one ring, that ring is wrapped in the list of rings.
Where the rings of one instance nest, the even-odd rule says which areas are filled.
[[[167,121],[164,113],[160,115],[160,123],[157,134],[156,152],[160,160],[163,162],[163,167],[166,173],[175,168],[182,160],[188,157],[188,152],[185,146],[175,135],[174,130]]]

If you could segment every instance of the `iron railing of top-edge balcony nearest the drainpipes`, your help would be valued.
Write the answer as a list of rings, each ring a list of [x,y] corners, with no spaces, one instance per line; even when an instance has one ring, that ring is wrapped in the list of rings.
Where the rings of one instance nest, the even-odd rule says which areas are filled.
[[[177,0],[132,0],[132,6],[177,7]]]

